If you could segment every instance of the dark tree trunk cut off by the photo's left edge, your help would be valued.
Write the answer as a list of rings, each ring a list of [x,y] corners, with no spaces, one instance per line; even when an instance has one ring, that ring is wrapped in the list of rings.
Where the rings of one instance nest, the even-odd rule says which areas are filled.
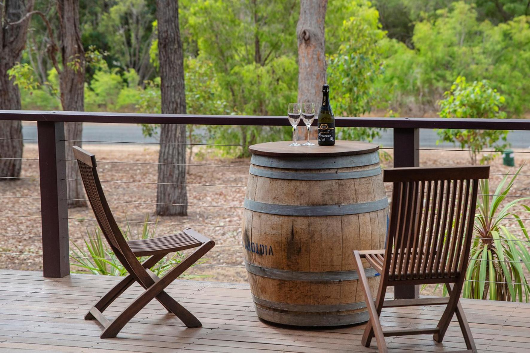
[[[33,0],[5,0],[2,23],[0,23],[0,109],[20,110],[19,87],[9,79],[7,70],[20,60],[26,43],[29,19],[10,25],[22,19],[33,10]],[[22,169],[22,123],[20,121],[0,121],[0,177],[18,178]],[[15,159],[11,159],[15,158]],[[0,178],[0,181],[10,180]]]

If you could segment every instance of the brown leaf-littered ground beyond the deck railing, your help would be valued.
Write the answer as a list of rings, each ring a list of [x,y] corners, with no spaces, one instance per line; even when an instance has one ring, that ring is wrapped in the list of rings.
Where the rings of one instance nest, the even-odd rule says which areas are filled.
[[[100,161],[128,161],[156,163],[158,148],[155,146],[138,147],[138,145],[85,145],[85,148],[96,154]],[[385,150],[392,156],[392,150]],[[525,162],[530,150],[515,153],[516,165]],[[189,184],[212,184],[223,186],[193,186],[188,190],[188,216],[157,217],[154,215],[156,202],[156,164],[104,163],[99,162],[101,180],[129,181],[129,183],[104,182],[103,188],[108,200],[146,202],[124,203],[111,202],[114,217],[129,220],[133,232],[142,226],[146,216],[150,222],[158,222],[157,235],[178,232],[184,225],[165,225],[164,223],[195,224],[197,231],[204,233],[216,241],[217,246],[207,255],[209,265],[243,266],[241,249],[241,217],[248,178],[249,158],[230,159],[216,155],[212,151],[202,151],[200,160],[195,158],[189,167],[187,182]],[[21,253],[25,255],[0,254],[2,268],[41,270],[42,259],[39,255],[41,246],[41,219],[39,197],[39,169],[37,145],[28,144],[24,147],[23,178],[0,182],[0,252]],[[74,163],[74,162],[67,162]],[[383,161],[383,166],[390,167],[391,161]],[[465,151],[420,151],[420,165],[465,165],[469,164],[469,156]],[[224,166],[207,166],[224,165]],[[515,168],[502,165],[502,158],[497,157],[491,163],[492,173],[515,172]],[[523,166],[513,190],[514,195],[530,196],[530,164]],[[491,175],[491,186],[496,187],[501,175]],[[131,183],[131,182],[152,182]],[[391,185],[386,186],[387,190]],[[5,198],[14,196],[14,198]],[[24,197],[24,198],[20,198]],[[26,198],[34,197],[34,198]],[[218,207],[215,207],[218,206]],[[14,217],[25,216],[25,217]],[[68,211],[69,235],[72,241],[83,246],[83,238],[87,232],[93,232],[95,222],[89,208],[74,208]],[[530,217],[527,217],[530,218]],[[212,226],[208,226],[212,225]],[[151,226],[154,226],[152,224]],[[9,234],[9,235],[6,235]],[[190,270],[191,274],[210,275],[208,280],[241,283],[246,281],[243,268],[223,266],[200,266]]]

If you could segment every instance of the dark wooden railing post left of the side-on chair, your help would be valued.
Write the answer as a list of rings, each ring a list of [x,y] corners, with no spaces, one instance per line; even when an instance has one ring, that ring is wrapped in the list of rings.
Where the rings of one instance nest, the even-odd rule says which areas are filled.
[[[42,268],[44,277],[70,273],[64,122],[37,122],[39,139]]]

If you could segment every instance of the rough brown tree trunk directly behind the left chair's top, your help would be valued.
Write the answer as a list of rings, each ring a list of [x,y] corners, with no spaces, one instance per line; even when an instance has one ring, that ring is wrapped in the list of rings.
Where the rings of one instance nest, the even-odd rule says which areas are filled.
[[[81,42],[79,0],[57,0],[60,23],[60,50],[63,69],[59,75],[63,110],[84,111],[85,51]],[[74,160],[72,146],[82,145],[82,122],[65,123],[66,159]],[[66,162],[66,179],[81,179],[77,163]],[[86,201],[81,181],[67,181],[68,208],[85,207]]]

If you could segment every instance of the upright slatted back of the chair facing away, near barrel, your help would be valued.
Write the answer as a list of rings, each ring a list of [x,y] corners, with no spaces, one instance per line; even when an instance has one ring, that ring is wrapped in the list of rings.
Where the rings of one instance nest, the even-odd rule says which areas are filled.
[[[383,275],[390,281],[460,278],[478,181],[488,177],[489,166],[385,170],[383,180],[394,187]]]

